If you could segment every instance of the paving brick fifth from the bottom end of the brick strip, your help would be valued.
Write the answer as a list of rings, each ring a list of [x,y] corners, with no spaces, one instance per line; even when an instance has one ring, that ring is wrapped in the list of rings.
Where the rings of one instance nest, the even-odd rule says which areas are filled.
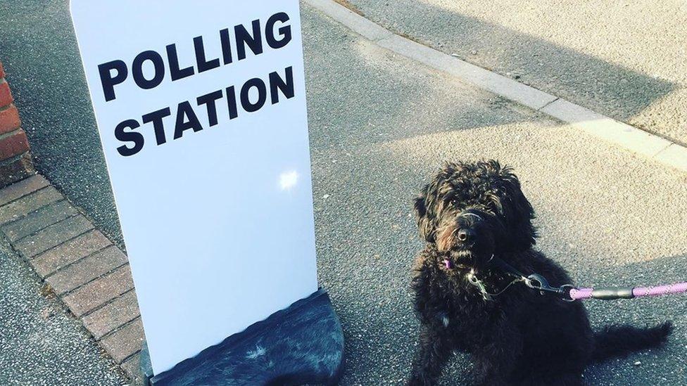
[[[48,276],[45,281],[58,295],[75,290],[89,281],[127,264],[127,256],[111,245]]]

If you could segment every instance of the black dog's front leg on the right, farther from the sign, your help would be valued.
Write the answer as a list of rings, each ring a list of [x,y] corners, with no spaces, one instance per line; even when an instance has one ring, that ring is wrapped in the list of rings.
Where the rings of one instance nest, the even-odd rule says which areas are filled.
[[[477,385],[509,385],[516,361],[522,355],[522,337],[506,322],[483,336],[484,341],[472,350]]]

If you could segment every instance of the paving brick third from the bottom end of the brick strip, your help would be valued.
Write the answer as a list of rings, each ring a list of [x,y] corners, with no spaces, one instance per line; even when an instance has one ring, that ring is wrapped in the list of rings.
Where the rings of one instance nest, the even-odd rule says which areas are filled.
[[[96,340],[140,316],[136,291],[129,291],[101,309],[84,316],[83,321]]]

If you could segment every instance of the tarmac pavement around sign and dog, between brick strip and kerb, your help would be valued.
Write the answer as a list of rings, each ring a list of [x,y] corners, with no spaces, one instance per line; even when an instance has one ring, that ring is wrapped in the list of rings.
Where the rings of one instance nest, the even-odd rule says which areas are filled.
[[[34,128],[38,167],[120,238],[116,223],[107,221],[116,215],[84,107],[87,91],[74,67],[73,37],[62,30],[65,1],[49,1],[44,11],[38,3],[14,3],[11,18],[46,24],[44,32],[0,37],[6,67],[21,69],[8,79],[25,125]],[[0,4],[0,25],[8,9]],[[398,385],[408,375],[418,328],[410,266],[423,246],[411,202],[444,160],[497,158],[515,167],[538,213],[538,248],[579,285],[686,280],[687,174],[380,49],[308,7],[303,34],[318,273],[346,335],[341,385]],[[26,45],[32,53],[20,55]],[[51,56],[55,46],[63,51]],[[36,61],[50,63],[48,70]],[[47,81],[46,71],[57,67],[75,73]],[[40,89],[45,100],[35,94]],[[47,99],[58,90],[58,102]],[[57,111],[63,124],[46,124]],[[676,322],[666,348],[592,366],[585,373],[589,384],[683,383],[686,299],[588,302],[595,326]],[[469,369],[467,357],[456,355],[442,384],[468,382]]]

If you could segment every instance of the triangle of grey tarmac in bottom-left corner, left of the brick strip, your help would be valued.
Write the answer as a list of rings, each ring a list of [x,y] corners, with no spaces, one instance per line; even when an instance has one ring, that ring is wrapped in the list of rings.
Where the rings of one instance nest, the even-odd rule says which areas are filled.
[[[0,245],[0,385],[127,385],[20,257]]]

